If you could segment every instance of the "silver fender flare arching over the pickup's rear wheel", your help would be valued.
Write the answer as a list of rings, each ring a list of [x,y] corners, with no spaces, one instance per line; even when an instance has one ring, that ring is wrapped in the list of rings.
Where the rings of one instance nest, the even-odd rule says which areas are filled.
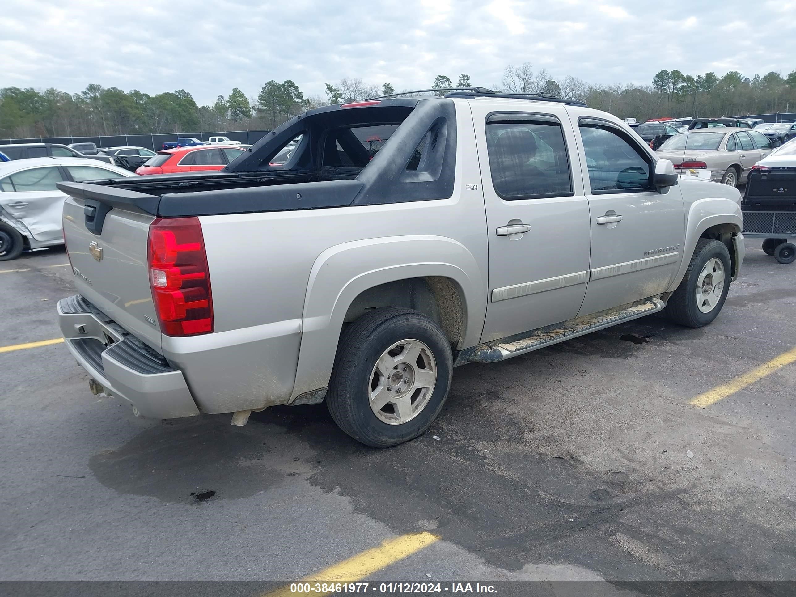
[[[357,295],[380,284],[425,276],[443,276],[458,285],[465,314],[459,348],[477,344],[486,314],[486,279],[474,256],[456,240],[390,236],[322,252],[307,283],[291,402],[329,384],[343,319]]]

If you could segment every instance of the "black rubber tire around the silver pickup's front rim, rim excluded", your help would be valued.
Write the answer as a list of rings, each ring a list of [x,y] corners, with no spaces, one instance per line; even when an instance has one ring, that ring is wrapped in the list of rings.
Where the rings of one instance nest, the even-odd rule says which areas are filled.
[[[716,257],[724,266],[724,287],[716,305],[708,313],[703,313],[696,305],[696,281],[702,268],[710,259]],[[724,243],[718,240],[700,238],[696,242],[693,256],[685,275],[677,290],[669,297],[666,303],[666,315],[681,326],[702,327],[716,319],[727,299],[732,275],[732,261],[730,252]]]

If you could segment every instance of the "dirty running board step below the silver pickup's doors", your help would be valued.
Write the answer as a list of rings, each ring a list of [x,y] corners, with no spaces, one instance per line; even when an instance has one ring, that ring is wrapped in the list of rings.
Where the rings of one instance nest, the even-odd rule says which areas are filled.
[[[621,311],[599,315],[598,317],[587,316],[575,320],[570,326],[561,327],[556,330],[547,330],[540,334],[534,334],[528,338],[520,338],[512,342],[497,342],[494,344],[482,344],[476,346],[467,361],[470,363],[494,363],[504,359],[516,357],[519,354],[529,353],[545,346],[558,344],[570,338],[577,338],[584,334],[589,334],[596,330],[615,326],[618,323],[628,322],[631,319],[643,317],[660,311],[665,307],[660,298],[651,298],[648,302],[641,305],[631,306]]]

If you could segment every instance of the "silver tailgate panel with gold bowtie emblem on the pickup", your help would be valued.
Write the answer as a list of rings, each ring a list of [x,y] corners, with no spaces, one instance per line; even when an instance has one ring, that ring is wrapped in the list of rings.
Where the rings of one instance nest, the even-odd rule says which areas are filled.
[[[114,207],[96,233],[87,228],[85,205],[80,197],[64,202],[64,239],[77,290],[119,326],[160,352],[161,331],[146,260],[154,217]]]

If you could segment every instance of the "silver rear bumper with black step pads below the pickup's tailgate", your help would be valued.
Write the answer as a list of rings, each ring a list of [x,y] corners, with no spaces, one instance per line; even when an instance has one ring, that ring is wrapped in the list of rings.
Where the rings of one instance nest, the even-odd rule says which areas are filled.
[[[142,416],[174,419],[199,414],[182,372],[82,296],[58,302],[58,324],[77,362]]]

